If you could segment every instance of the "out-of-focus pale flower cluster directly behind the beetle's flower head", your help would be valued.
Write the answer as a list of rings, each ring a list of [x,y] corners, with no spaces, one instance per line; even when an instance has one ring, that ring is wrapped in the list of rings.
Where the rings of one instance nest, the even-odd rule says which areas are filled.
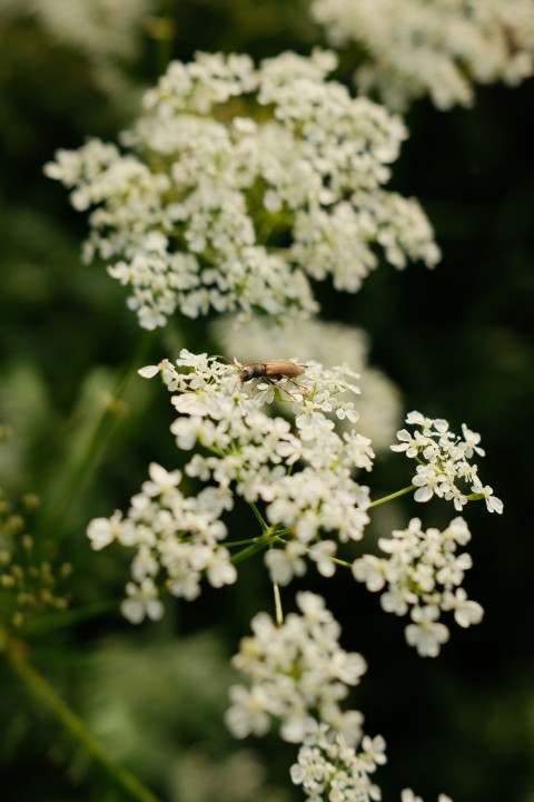
[[[369,366],[369,340],[362,329],[318,317],[276,326],[259,316],[243,323],[225,316],[212,323],[211,331],[226,353],[238,353],[246,343],[249,359],[263,359],[275,349],[298,353],[301,360],[317,360],[327,368],[346,362],[359,373],[359,431],[372,440],[375,451],[389,448],[402,420],[400,393],[380,370]]]

